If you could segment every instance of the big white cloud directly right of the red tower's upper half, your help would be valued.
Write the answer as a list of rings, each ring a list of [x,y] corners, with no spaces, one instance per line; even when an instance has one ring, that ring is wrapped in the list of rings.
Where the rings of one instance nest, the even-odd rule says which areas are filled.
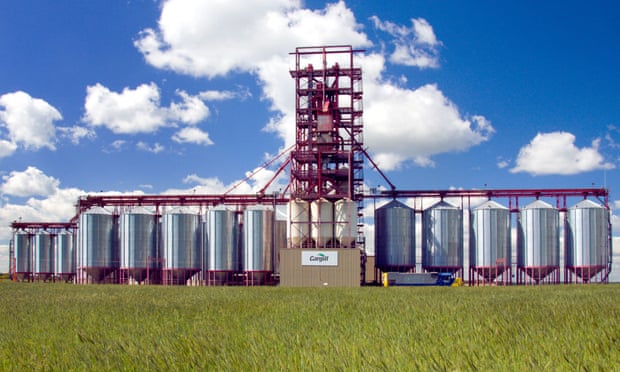
[[[462,118],[434,84],[415,90],[380,81],[366,86],[366,143],[383,170],[398,168],[406,160],[431,166],[432,155],[465,151],[494,132],[480,115]]]

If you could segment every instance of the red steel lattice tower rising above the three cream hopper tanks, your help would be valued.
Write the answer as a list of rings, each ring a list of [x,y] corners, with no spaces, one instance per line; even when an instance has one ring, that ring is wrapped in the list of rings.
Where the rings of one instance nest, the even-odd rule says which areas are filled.
[[[351,46],[296,48],[296,146],[291,198],[361,202],[364,182],[362,70]]]

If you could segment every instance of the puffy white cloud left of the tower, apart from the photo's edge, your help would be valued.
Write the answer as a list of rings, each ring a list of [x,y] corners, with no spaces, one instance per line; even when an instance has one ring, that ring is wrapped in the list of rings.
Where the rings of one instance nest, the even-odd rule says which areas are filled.
[[[153,133],[176,122],[194,125],[209,116],[209,109],[198,96],[177,91],[181,102],[169,107],[160,105],[159,88],[155,83],[135,89],[112,92],[97,83],[86,89],[83,121],[91,126],[104,126],[117,134]]]

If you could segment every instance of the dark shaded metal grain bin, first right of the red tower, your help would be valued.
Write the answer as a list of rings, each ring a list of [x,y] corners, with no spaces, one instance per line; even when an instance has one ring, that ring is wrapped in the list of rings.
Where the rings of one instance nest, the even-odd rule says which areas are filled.
[[[415,212],[399,201],[375,211],[375,266],[384,272],[415,270]]]

